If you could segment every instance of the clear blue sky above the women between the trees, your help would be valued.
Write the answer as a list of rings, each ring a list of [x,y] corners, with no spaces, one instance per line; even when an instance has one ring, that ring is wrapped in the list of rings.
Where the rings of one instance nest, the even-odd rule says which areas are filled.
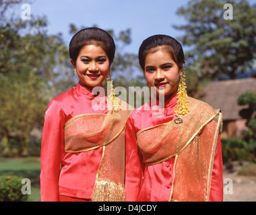
[[[141,42],[154,34],[174,38],[184,33],[174,30],[173,24],[185,24],[176,14],[189,0],[36,0],[31,5],[32,16],[46,15],[49,34],[61,32],[65,42],[71,40],[69,24],[121,30],[131,28],[131,44],[125,50],[137,54]],[[20,12],[22,9],[20,8]]]

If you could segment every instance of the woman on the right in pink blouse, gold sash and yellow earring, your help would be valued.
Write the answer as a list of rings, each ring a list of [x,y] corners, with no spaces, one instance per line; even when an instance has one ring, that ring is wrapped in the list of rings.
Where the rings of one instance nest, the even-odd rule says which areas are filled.
[[[127,200],[222,201],[222,114],[187,97],[181,44],[151,36],[139,63],[156,97],[127,121]]]

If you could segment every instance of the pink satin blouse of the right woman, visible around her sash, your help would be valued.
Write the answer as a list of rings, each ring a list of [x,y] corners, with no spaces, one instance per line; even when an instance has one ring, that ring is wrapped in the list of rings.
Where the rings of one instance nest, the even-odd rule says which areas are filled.
[[[136,143],[136,133],[144,128],[172,120],[174,118],[176,101],[177,94],[174,94],[164,103],[163,109],[156,105],[146,103],[141,108],[135,110],[127,121],[125,175],[127,201],[165,202],[170,198],[174,158],[156,165],[143,165],[142,156]],[[219,136],[212,172],[210,201],[223,200],[222,166],[222,151]]]

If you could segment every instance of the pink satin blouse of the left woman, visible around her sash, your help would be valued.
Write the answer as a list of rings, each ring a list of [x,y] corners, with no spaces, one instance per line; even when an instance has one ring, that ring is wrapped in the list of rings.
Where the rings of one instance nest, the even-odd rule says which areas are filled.
[[[94,99],[92,91],[78,83],[49,103],[41,146],[42,201],[59,201],[59,195],[88,200],[92,197],[102,147],[84,153],[65,153],[64,125],[80,114],[106,114],[106,98],[97,96],[96,106],[92,105]]]

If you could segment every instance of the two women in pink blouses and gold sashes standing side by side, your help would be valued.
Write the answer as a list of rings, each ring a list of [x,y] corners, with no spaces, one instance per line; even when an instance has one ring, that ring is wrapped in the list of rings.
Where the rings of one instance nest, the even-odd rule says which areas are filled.
[[[179,42],[152,36],[141,44],[141,68],[156,103],[161,96],[164,103],[146,103],[132,114],[102,88],[93,93],[115,56],[109,34],[81,30],[69,53],[79,83],[52,99],[45,114],[42,201],[222,200],[221,114],[187,98]]]

